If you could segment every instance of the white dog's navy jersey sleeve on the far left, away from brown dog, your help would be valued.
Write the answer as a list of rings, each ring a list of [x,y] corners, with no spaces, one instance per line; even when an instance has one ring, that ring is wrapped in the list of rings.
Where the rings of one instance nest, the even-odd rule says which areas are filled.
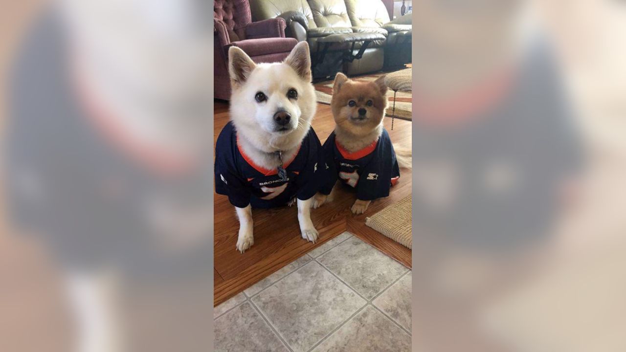
[[[215,192],[227,195],[230,204],[245,208],[250,204],[250,190],[246,180],[237,172],[237,142],[232,127],[225,127],[215,147]]]

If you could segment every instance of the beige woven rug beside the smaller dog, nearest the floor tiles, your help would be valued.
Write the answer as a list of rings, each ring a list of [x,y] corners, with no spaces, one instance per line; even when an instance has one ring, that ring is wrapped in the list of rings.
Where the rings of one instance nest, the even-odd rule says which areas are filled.
[[[404,247],[411,249],[413,246],[411,239],[411,230],[413,230],[413,223],[411,222],[412,210],[411,195],[408,195],[398,203],[388,205],[372,215],[372,217],[367,217],[365,224]]]

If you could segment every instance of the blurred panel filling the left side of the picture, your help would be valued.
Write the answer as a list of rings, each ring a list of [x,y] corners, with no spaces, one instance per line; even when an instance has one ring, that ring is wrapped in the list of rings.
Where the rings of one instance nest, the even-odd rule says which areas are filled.
[[[3,5],[0,349],[210,349],[212,3]]]

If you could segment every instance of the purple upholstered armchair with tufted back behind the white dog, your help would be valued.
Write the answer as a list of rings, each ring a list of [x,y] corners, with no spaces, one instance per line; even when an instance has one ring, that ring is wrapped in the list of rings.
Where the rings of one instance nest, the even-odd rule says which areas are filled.
[[[285,20],[282,18],[252,22],[248,0],[215,0],[213,5],[215,98],[230,99],[228,48],[231,46],[241,48],[255,63],[282,61],[298,43],[294,38],[285,38],[285,26]]]

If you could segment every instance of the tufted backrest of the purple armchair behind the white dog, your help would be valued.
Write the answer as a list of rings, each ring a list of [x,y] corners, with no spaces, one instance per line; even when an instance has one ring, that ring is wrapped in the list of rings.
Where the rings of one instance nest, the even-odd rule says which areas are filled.
[[[245,39],[244,28],[252,22],[248,0],[215,0],[213,18],[226,25],[230,41]]]

